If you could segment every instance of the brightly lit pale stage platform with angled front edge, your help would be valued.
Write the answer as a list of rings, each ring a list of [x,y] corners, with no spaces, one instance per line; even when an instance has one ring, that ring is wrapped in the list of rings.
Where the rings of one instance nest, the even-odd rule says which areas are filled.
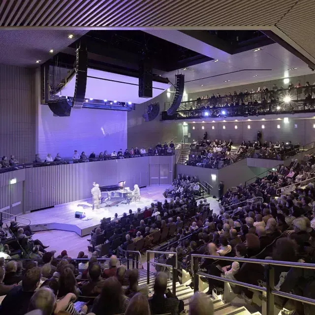
[[[143,209],[145,206],[150,206],[152,202],[163,201],[165,198],[162,195],[164,190],[169,185],[150,186],[140,189],[141,201],[126,203],[125,199],[112,198],[107,206],[105,203],[100,205],[100,209],[92,210],[92,197],[85,200],[74,201],[62,205],[55,206],[45,210],[39,210],[28,214],[23,214],[23,217],[31,220],[32,231],[47,231],[47,230],[64,230],[73,231],[80,236],[90,234],[91,230],[99,226],[100,220],[103,218],[114,218],[115,213],[118,216],[128,213],[129,209],[133,212],[137,208]],[[85,212],[84,219],[76,219],[74,214],[76,211]]]

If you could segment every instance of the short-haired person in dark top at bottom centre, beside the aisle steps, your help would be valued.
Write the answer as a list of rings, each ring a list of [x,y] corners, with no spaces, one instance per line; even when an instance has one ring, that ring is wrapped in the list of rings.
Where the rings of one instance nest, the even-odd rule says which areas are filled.
[[[149,299],[151,314],[178,315],[180,313],[180,301],[172,295],[167,288],[167,276],[163,272],[158,272],[154,282],[154,294]],[[165,297],[166,296],[166,297]]]

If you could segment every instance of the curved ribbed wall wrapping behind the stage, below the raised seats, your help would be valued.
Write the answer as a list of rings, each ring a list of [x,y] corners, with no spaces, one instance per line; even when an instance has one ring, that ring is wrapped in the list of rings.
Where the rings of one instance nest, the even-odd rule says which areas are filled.
[[[32,211],[91,197],[92,183],[113,185],[126,181],[133,189],[150,185],[151,165],[168,170],[163,185],[173,180],[174,156],[142,157],[25,168],[0,174],[0,209],[12,213]],[[167,167],[166,167],[167,166]],[[17,183],[9,185],[10,179]],[[10,191],[11,190],[11,191]]]

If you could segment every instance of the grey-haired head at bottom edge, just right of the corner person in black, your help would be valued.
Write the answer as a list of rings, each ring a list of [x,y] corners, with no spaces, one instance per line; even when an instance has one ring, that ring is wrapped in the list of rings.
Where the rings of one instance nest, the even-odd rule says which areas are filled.
[[[49,287],[42,287],[33,294],[28,311],[41,310],[42,315],[51,315],[54,314],[56,303],[54,292]]]

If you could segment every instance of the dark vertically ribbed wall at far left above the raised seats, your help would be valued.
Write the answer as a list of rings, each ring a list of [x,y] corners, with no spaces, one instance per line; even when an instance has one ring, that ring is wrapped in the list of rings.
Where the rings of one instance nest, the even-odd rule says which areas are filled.
[[[0,156],[20,162],[35,154],[35,72],[0,64]]]

